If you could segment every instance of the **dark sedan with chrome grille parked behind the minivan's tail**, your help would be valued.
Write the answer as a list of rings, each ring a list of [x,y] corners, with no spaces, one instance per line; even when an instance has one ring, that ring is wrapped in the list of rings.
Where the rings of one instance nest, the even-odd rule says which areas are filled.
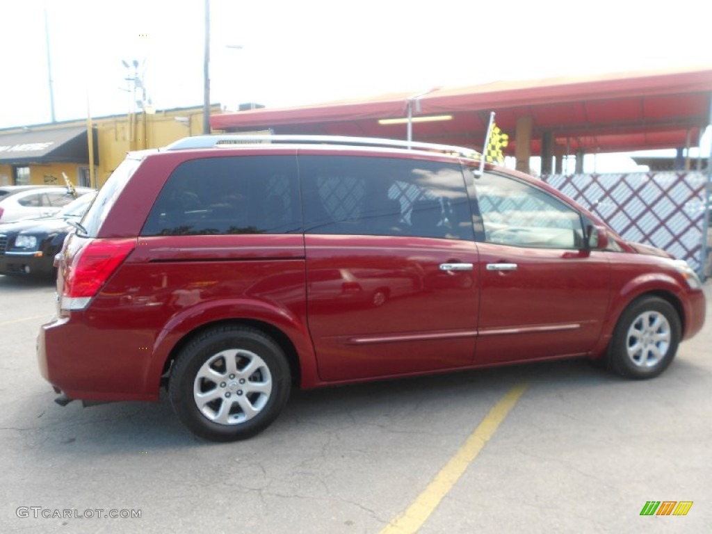
[[[54,256],[96,193],[83,194],[58,214],[0,224],[0,274],[54,276]]]

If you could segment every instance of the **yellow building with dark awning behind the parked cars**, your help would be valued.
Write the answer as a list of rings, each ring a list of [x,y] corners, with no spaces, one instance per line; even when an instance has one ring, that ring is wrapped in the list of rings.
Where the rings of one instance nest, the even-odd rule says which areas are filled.
[[[219,110],[219,105],[211,108]],[[64,185],[64,173],[75,185],[101,187],[126,152],[199,135],[202,125],[200,106],[1,129],[0,186]]]

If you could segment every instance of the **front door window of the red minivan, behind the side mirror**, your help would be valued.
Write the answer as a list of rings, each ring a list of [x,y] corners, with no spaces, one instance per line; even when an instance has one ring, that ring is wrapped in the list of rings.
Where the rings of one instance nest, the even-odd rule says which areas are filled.
[[[499,174],[475,179],[486,241],[533,248],[581,248],[580,214],[542,189]]]

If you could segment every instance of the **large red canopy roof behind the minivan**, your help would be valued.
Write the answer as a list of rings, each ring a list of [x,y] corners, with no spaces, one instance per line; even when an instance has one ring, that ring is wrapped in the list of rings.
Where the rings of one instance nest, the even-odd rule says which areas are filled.
[[[262,108],[213,115],[216,130],[271,128],[279,134],[360,135],[404,139],[407,125],[379,119],[452,115],[451,120],[417,122],[413,139],[481,147],[489,112],[510,134],[514,147],[519,117],[533,120],[532,151],[540,152],[545,132],[553,132],[569,153],[623,152],[695,145],[709,121],[712,69],[503,81],[444,87],[426,93],[393,93],[298,108]],[[416,104],[416,102],[419,102]]]

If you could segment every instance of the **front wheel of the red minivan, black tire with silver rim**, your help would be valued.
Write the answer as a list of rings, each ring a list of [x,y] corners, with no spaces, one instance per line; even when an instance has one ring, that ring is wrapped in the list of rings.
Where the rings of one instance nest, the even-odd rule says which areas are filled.
[[[680,335],[680,318],[669,302],[658,297],[634,300],[613,332],[608,366],[624,377],[656,377],[674,359]]]

